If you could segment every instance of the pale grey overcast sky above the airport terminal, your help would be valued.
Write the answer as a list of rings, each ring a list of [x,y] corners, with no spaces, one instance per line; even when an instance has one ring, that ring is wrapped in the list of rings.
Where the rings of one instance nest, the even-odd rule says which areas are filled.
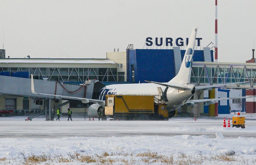
[[[10,58],[106,58],[128,44],[142,49],[146,37],[189,37],[195,26],[202,47],[215,44],[215,0],[0,2],[0,48]],[[254,41],[256,1],[219,0],[218,61],[251,59]]]

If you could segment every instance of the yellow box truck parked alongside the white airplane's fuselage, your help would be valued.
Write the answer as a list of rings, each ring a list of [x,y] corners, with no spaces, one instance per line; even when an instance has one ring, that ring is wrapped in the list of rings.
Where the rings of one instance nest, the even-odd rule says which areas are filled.
[[[107,95],[104,114],[114,120],[168,120],[166,104],[155,96]]]

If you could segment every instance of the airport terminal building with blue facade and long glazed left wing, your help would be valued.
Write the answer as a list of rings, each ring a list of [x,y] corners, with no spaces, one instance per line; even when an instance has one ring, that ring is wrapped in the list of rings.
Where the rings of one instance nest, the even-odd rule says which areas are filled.
[[[123,52],[108,52],[104,59],[33,59],[30,56],[28,58],[6,58],[5,50],[0,50],[0,52],[0,76],[31,78],[31,74],[33,74],[34,79],[77,85],[88,80],[99,80],[105,85],[145,83],[145,80],[168,82],[178,73],[185,54],[185,50],[181,50],[181,47],[133,49],[133,45],[129,45],[127,50]],[[212,63],[213,51],[208,47],[195,50],[193,61],[197,64],[196,67],[200,65],[200,62]],[[198,85],[204,80],[203,83],[209,85],[209,82],[205,80],[207,79],[206,75],[204,75],[204,79],[197,82],[198,77],[202,76],[199,75],[199,72],[194,71],[191,74],[191,83]],[[197,80],[193,79],[196,76]],[[17,83],[15,88],[22,88],[22,84],[15,83]],[[10,86],[10,88],[13,87]],[[224,92],[225,97],[229,95],[229,90],[223,89],[220,92]],[[39,101],[40,104],[38,105],[36,103],[37,98],[16,96],[14,94],[7,95],[7,93],[1,92],[1,87],[0,94],[0,110],[12,109],[17,113],[26,113],[32,109],[44,109],[44,107],[38,108],[43,103]],[[194,97],[203,99],[205,96],[204,94],[195,93]],[[51,105],[55,105],[55,102],[52,100]],[[58,104],[60,103],[58,102]],[[229,105],[229,102],[226,101],[226,104]],[[70,101],[62,107],[62,113],[66,113],[68,107],[72,108],[73,112],[84,113],[86,105],[81,101]],[[193,109],[198,109],[198,116],[200,114],[210,114],[207,111],[207,105],[200,103],[199,107],[185,105],[178,109],[178,113],[192,113],[196,111]],[[229,111],[228,106],[219,108],[220,113],[222,113],[221,109],[228,109]]]

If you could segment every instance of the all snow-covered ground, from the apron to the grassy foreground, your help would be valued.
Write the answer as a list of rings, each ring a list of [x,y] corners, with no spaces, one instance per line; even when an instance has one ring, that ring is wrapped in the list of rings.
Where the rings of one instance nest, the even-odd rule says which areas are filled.
[[[0,118],[0,164],[256,164],[256,114],[169,121]],[[223,128],[223,117],[231,127]]]

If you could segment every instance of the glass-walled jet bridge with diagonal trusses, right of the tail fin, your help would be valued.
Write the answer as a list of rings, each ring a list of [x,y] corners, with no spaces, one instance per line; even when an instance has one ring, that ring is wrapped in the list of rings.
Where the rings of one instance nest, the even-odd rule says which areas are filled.
[[[226,88],[255,89],[256,63],[193,62],[191,84],[197,86],[240,83]]]

